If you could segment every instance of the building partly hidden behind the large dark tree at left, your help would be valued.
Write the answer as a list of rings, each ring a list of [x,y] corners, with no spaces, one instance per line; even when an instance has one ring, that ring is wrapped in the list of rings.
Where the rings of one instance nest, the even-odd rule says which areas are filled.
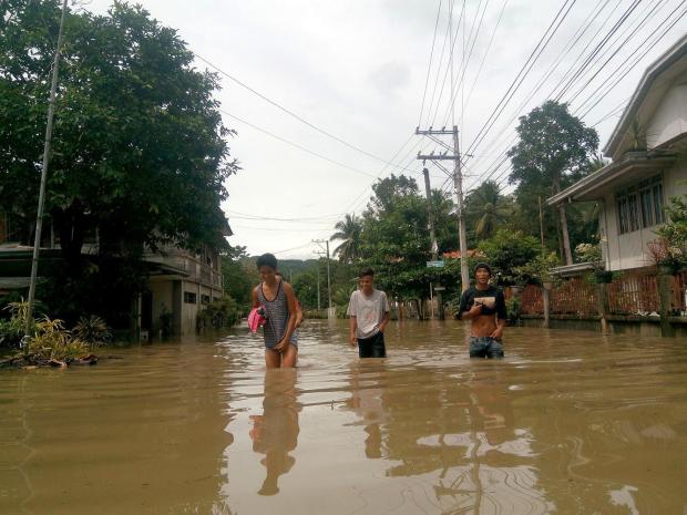
[[[60,243],[52,223],[44,226],[41,243],[39,275],[60,266]],[[21,228],[13,227],[10,217],[0,213],[0,295],[28,290],[33,247],[21,245]],[[232,236],[228,224],[222,236]],[[98,234],[84,240],[83,254],[98,254]],[[142,334],[157,336],[195,332],[196,316],[211,302],[224,296],[222,261],[217,250],[203,247],[197,254],[166,246],[143,256],[148,269],[146,291],[137,299],[136,327]]]

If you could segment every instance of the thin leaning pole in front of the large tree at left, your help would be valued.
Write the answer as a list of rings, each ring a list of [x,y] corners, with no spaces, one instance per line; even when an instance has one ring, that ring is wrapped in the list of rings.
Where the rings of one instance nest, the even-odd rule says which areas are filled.
[[[48,181],[48,166],[50,164],[50,144],[52,143],[52,121],[55,112],[55,96],[58,91],[58,69],[60,65],[60,52],[62,39],[64,37],[64,19],[66,18],[66,2],[62,2],[62,16],[60,18],[60,29],[58,32],[58,48],[52,65],[52,80],[50,83],[50,101],[48,103],[48,125],[45,126],[45,143],[43,144],[43,166],[41,169],[41,186],[38,196],[38,214],[35,216],[35,237],[33,239],[33,259],[31,261],[31,281],[29,282],[29,306],[27,308],[27,323],[24,327],[24,338],[22,347],[28,350],[28,339],[33,322],[33,301],[35,299],[35,279],[38,276],[38,259],[41,247],[41,231],[43,228],[43,206],[45,205],[45,183]]]

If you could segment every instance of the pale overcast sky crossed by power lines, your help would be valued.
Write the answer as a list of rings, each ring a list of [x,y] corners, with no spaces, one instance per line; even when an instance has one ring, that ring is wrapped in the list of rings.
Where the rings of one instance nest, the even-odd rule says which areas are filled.
[[[111,1],[79,3],[104,13]],[[644,70],[687,32],[684,0],[137,3],[178,31],[198,70],[233,78],[218,72],[216,93],[242,166],[226,183],[229,243],[280,259],[316,257],[325,245],[314,240],[329,239],[345,214],[360,215],[379,178],[403,173],[422,187],[416,155],[440,147],[414,135],[418,126],[459,126],[465,192],[485,178],[507,190],[507,162],[498,165],[517,116],[558,92],[629,10],[561,96],[603,148]],[[432,187],[452,193],[429,168]]]

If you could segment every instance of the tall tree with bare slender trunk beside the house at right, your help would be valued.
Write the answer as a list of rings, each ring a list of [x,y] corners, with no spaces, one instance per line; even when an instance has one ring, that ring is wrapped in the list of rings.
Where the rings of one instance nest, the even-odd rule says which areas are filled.
[[[543,200],[561,192],[589,172],[588,159],[598,147],[598,135],[570,114],[567,104],[554,101],[521,116],[517,135],[520,141],[509,151],[513,165],[509,181],[517,184],[515,197],[522,218],[539,220],[540,198]],[[567,264],[572,264],[564,205],[558,207],[557,218],[561,254]],[[547,220],[545,225],[551,227],[552,224]]]

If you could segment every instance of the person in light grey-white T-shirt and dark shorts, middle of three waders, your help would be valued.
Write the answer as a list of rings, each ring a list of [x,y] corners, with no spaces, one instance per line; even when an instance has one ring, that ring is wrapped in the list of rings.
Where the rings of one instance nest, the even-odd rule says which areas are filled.
[[[358,276],[360,289],[350,295],[350,344],[360,358],[386,358],[384,328],[389,323],[387,293],[375,289],[375,272],[367,268]]]

